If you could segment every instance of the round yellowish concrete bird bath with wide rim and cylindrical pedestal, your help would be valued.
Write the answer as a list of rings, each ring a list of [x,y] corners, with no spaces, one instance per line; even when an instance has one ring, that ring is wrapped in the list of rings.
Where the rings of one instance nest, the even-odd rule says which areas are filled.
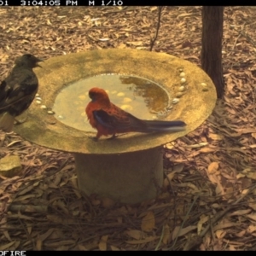
[[[85,195],[96,194],[114,201],[137,203],[154,198],[163,183],[161,146],[194,131],[212,113],[216,102],[215,87],[206,73],[189,61],[164,53],[135,49],[92,50],[51,58],[44,61],[42,67],[35,70],[42,102],[32,102],[26,122],[15,125],[15,132],[32,143],[73,153],[79,189]],[[86,83],[86,79],[102,74],[131,75],[160,84],[167,93],[167,107],[161,119],[181,119],[187,124],[186,130],[129,133],[114,140],[102,137],[95,142],[89,136],[95,136],[96,131],[89,126],[83,130],[83,125],[79,128],[65,123],[66,111],[57,113],[59,110],[55,107],[61,91],[67,86],[72,88],[73,84],[84,83],[84,93],[78,92],[78,97],[84,101],[85,108],[86,91],[95,87]],[[125,90],[137,84],[123,86]],[[109,96],[112,100],[111,91]],[[76,103],[67,102],[66,106],[71,110],[77,108]],[[82,107],[78,109],[81,122],[85,119]],[[143,118],[141,109],[135,110],[133,114]]]

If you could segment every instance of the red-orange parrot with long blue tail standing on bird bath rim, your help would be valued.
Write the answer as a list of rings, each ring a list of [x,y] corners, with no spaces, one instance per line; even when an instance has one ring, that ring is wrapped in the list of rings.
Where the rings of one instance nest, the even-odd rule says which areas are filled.
[[[130,131],[184,131],[183,121],[160,121],[137,119],[131,113],[117,107],[110,102],[108,94],[101,88],[92,88],[89,91],[91,102],[85,108],[90,125],[97,130],[95,140],[102,135],[112,135]]]

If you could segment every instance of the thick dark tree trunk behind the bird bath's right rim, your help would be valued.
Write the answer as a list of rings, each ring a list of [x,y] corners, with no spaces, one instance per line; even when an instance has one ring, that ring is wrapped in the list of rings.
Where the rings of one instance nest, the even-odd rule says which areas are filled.
[[[224,95],[222,36],[224,6],[203,6],[201,67],[215,84],[218,98]]]

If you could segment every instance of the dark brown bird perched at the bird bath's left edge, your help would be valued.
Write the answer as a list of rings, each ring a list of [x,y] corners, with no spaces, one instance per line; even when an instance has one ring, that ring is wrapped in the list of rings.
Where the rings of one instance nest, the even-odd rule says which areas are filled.
[[[0,130],[12,131],[15,117],[23,113],[38,92],[38,78],[33,67],[41,67],[34,55],[26,54],[15,60],[15,67],[0,84]]]

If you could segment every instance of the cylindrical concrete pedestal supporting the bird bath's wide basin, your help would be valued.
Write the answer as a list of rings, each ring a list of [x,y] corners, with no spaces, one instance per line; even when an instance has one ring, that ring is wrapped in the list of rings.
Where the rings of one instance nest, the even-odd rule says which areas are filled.
[[[126,154],[74,154],[79,189],[121,203],[154,199],[163,184],[160,148]]]

